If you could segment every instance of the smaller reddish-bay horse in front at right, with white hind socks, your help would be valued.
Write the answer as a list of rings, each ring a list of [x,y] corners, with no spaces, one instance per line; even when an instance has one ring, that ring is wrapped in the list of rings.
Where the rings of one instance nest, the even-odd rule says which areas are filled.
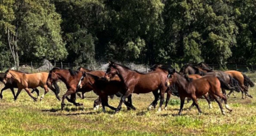
[[[181,115],[186,97],[191,98],[193,103],[196,105],[198,112],[202,113],[197,102],[197,97],[201,97],[207,93],[219,104],[223,115],[225,115],[225,111],[222,107],[222,104],[218,101],[217,96],[224,100],[226,109],[228,109],[230,112],[232,111],[232,109],[230,109],[228,106],[226,96],[221,93],[221,87],[229,88],[228,84],[226,84],[221,78],[214,76],[204,76],[202,78],[193,80],[187,76],[183,77],[183,75],[176,72],[175,69],[169,69],[168,73],[169,74],[166,80],[166,86],[169,87],[172,84],[176,84],[180,94],[181,105],[179,115]]]

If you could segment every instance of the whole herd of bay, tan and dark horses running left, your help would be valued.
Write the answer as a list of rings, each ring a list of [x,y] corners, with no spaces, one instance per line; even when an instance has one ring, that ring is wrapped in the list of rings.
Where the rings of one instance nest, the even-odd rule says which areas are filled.
[[[230,71],[213,71],[207,64],[201,62],[196,66],[185,64],[178,72],[176,69],[165,69],[161,65],[154,65],[147,73],[132,70],[124,65],[109,62],[109,66],[104,71],[91,71],[85,68],[77,70],[53,68],[48,72],[39,73],[24,73],[16,70],[7,70],[5,73],[0,73],[0,81],[4,83],[4,88],[1,90],[0,98],[2,99],[2,92],[5,89],[11,89],[14,100],[20,94],[22,89],[25,89],[28,95],[35,101],[38,100],[39,90],[37,87],[42,87],[45,92],[40,100],[51,89],[56,98],[59,97],[59,86],[57,81],[61,80],[67,87],[67,92],[62,96],[61,110],[65,108],[65,100],[73,103],[75,106],[81,106],[82,103],[76,102],[76,94],[94,91],[99,97],[94,101],[94,109],[98,109],[102,104],[103,112],[105,107],[109,107],[118,113],[124,103],[128,110],[136,108],[132,104],[132,94],[145,94],[152,92],[154,95],[153,102],[148,106],[148,109],[156,108],[158,101],[160,112],[162,105],[165,102],[164,95],[167,93],[164,109],[167,110],[168,101],[171,95],[180,97],[180,111],[182,113],[185,98],[193,100],[189,107],[191,109],[196,106],[199,113],[202,113],[198,98],[204,98],[212,108],[211,101],[215,100],[222,114],[225,110],[221,101],[224,101],[225,107],[228,111],[232,109],[228,106],[227,97],[233,92],[242,92],[242,99],[252,96],[248,92],[249,86],[253,87],[254,83],[244,73],[230,70]],[[18,88],[15,95],[14,88]],[[29,89],[33,89],[31,92]],[[226,90],[230,90],[226,95]],[[37,97],[32,95],[37,92]],[[120,102],[117,107],[109,105],[109,96],[113,98],[116,95],[120,97]],[[70,97],[68,97],[70,96]]]

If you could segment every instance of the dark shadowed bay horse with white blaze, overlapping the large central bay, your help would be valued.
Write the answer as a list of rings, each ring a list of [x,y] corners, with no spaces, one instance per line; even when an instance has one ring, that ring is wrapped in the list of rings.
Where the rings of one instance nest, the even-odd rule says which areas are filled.
[[[101,75],[105,75],[105,72],[99,72],[101,72]],[[93,72],[83,72],[77,88],[81,89],[85,85],[90,85],[94,92],[99,95],[99,100],[101,101],[103,112],[105,112],[105,106],[112,110],[116,110],[116,108],[109,105],[108,96],[115,95],[118,92],[123,92],[123,90],[125,90],[124,84],[121,82],[117,75],[111,78],[110,81],[106,81],[101,75],[94,75]],[[128,102],[124,101],[124,103],[128,110],[136,110],[136,108],[132,105],[131,95],[128,97]]]

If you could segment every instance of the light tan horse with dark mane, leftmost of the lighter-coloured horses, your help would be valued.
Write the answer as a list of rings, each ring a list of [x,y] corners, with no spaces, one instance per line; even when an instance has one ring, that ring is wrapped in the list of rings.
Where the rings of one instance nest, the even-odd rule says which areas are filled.
[[[46,85],[46,80],[48,77],[48,73],[47,72],[39,72],[39,73],[23,73],[23,72],[19,72],[16,70],[7,70],[5,72],[5,76],[3,79],[4,84],[7,83],[7,81],[11,78],[14,79],[14,81],[17,83],[18,86],[18,91],[16,96],[14,97],[14,100],[16,100],[21,92],[22,89],[25,89],[28,93],[28,95],[34,99],[35,101],[37,101],[37,98],[35,98],[31,92],[29,91],[29,88],[37,88],[39,86],[44,88],[44,94],[41,96],[40,100],[42,100],[44,98],[44,95],[47,94],[48,92],[48,87],[55,93],[57,99],[59,99],[58,97],[58,92],[59,92],[59,87],[55,86],[56,88],[53,88],[52,86],[47,86]],[[57,85],[57,84],[55,84]]]

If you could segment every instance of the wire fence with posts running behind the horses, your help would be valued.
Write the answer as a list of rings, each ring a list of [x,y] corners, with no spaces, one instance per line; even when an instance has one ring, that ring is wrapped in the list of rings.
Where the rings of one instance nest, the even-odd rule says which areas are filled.
[[[195,64],[196,65],[196,64]],[[130,67],[131,69],[136,69],[141,72],[148,72],[151,66],[148,65],[130,65],[127,64],[126,66]],[[173,65],[162,65],[163,68],[175,68],[177,70],[180,70],[180,68],[183,66],[183,64],[173,64]],[[213,70],[237,70],[240,72],[255,72],[256,71],[256,65],[222,65],[222,64],[209,64],[210,67],[213,68]],[[9,65],[4,65],[1,63],[1,72],[5,72],[8,69],[14,69],[19,70],[23,72],[41,72],[41,71],[49,71],[53,67],[63,68],[63,69],[78,69],[79,67],[87,68],[90,70],[103,70],[105,71],[108,67],[108,64],[99,64],[97,66],[95,65],[88,65],[88,64],[74,64],[74,63],[56,63],[52,64],[50,62],[47,63],[19,63],[19,67],[16,67],[14,63],[11,63]]]

